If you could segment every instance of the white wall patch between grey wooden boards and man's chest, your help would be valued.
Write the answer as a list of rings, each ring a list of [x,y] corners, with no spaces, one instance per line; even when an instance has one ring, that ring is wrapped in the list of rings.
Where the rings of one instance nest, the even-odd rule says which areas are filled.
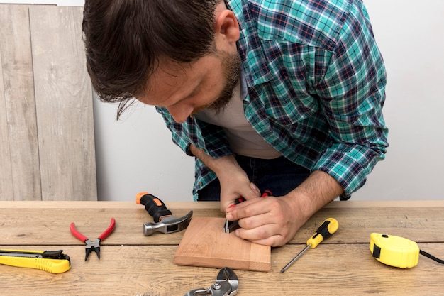
[[[147,191],[164,201],[192,201],[194,158],[172,143],[154,107],[138,103],[115,118],[116,106],[94,102],[99,199],[135,200]]]

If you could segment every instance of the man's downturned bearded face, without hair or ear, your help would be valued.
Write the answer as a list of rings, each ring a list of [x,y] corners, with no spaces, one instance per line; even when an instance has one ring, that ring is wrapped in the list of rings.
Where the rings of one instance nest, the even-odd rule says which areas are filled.
[[[223,109],[230,102],[239,78],[238,53],[218,50],[190,65],[161,62],[150,77],[145,94],[137,99],[167,108],[174,121],[182,123],[203,109]]]

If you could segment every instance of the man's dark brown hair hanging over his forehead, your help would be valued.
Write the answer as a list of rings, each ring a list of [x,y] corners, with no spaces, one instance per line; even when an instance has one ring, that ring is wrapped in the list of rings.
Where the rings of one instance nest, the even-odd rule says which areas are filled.
[[[87,69],[101,101],[119,103],[117,119],[160,60],[188,63],[211,53],[219,1],[85,1]]]

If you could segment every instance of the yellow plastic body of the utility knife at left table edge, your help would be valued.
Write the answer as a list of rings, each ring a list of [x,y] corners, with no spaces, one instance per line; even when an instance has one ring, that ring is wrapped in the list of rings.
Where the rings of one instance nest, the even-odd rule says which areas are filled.
[[[71,268],[67,259],[29,258],[16,256],[0,256],[0,264],[35,268],[48,271],[48,273],[65,273]]]

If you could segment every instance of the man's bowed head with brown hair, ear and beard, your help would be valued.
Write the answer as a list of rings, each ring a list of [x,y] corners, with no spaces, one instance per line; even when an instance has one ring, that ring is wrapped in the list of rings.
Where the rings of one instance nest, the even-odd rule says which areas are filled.
[[[102,101],[120,104],[118,116],[133,97],[169,108],[175,103],[171,99],[187,99],[185,91],[194,92],[186,94],[189,99],[210,87],[201,82],[212,84],[209,97],[218,91],[214,101],[230,92],[228,76],[240,68],[238,23],[221,0],[86,0],[82,28],[93,87]],[[219,73],[228,69],[229,75]],[[192,79],[199,80],[196,89],[176,88],[173,98],[159,86],[184,87]]]

